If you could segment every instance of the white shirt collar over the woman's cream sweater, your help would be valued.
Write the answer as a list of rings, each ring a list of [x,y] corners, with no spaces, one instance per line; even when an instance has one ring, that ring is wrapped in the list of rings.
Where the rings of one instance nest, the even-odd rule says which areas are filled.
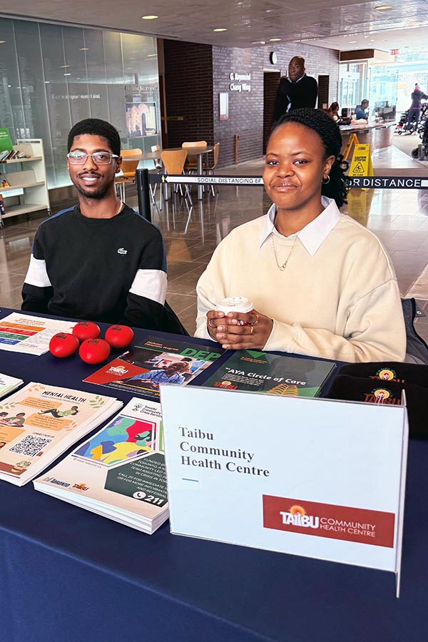
[[[287,238],[294,238],[297,236],[307,250],[307,252],[314,256],[322,242],[327,238],[332,229],[340,220],[340,211],[337,208],[336,201],[333,198],[327,198],[327,196],[321,197],[321,203],[325,207],[325,210],[315,218],[311,220],[310,223],[305,225],[302,230],[299,230],[296,234],[291,234]],[[275,203],[267,210],[265,215],[265,220],[263,221],[263,228],[260,234],[260,244],[261,248],[263,243],[270,237],[271,234],[276,234],[282,236],[275,228],[275,215],[276,215],[276,205]]]

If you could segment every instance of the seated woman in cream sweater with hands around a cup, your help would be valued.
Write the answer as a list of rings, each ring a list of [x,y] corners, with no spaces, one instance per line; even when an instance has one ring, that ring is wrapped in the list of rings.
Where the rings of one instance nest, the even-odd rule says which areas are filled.
[[[339,128],[323,111],[295,110],[277,123],[263,172],[273,205],[213,253],[198,281],[196,337],[232,350],[404,360],[391,260],[372,232],[339,210],[346,198],[341,146]],[[248,297],[254,310],[215,310],[230,296]]]

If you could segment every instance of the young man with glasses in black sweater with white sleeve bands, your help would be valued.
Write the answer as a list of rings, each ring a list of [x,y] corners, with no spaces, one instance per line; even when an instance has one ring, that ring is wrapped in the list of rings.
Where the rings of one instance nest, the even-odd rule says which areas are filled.
[[[67,169],[78,205],[39,226],[22,310],[160,329],[166,291],[160,231],[116,196],[121,139],[87,118],[68,134]]]

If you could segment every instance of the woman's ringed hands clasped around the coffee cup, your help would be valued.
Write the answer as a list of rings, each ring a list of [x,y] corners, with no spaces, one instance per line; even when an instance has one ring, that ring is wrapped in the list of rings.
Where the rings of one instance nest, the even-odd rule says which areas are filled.
[[[207,312],[207,328],[210,337],[221,343],[225,350],[263,350],[272,332],[273,321],[257,310],[244,314],[219,310]]]

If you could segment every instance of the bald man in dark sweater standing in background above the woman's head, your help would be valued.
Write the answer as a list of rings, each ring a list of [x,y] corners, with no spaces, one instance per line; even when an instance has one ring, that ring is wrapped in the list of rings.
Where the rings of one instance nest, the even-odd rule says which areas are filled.
[[[305,58],[294,56],[288,63],[287,78],[280,78],[275,97],[273,122],[276,123],[287,111],[315,107],[317,96],[317,81],[305,73]]]

